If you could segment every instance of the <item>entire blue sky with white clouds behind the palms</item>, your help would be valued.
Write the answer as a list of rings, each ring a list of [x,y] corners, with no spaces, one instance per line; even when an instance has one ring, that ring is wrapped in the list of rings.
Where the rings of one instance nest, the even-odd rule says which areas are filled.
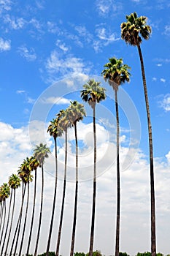
[[[0,181],[17,173],[23,159],[43,142],[52,154],[45,163],[45,198],[39,253],[45,252],[54,189],[54,145],[47,126],[71,100],[82,102],[80,91],[90,78],[101,82],[107,99],[96,106],[97,198],[94,249],[115,253],[116,169],[115,102],[101,72],[109,58],[122,58],[131,67],[131,81],[118,91],[120,109],[120,251],[135,255],[150,251],[150,175],[147,116],[139,56],[120,36],[125,15],[147,16],[152,27],[142,42],[152,121],[157,250],[170,253],[170,4],[167,0],[0,0]],[[80,189],[75,251],[88,252],[93,177],[92,110],[77,126]],[[53,238],[55,251],[63,186],[64,138],[58,140],[58,195]],[[69,130],[66,208],[61,255],[69,255],[74,205],[74,129]],[[34,183],[31,184],[33,192]],[[39,172],[38,197],[41,175]],[[20,191],[20,190],[19,190]],[[20,207],[20,192],[18,192]],[[29,212],[31,215],[30,202]],[[38,221],[39,198],[36,203]],[[17,219],[17,213],[15,214]],[[27,230],[30,219],[28,219]],[[26,234],[26,237],[28,233]],[[36,227],[34,227],[36,237]],[[26,247],[26,241],[23,250]],[[34,242],[31,244],[34,252]]]

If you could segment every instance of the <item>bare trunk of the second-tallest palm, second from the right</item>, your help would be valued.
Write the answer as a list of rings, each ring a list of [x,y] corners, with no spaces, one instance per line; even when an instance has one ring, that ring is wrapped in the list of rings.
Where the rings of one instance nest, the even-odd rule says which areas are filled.
[[[117,102],[117,89],[115,89],[115,108],[116,108],[116,147],[117,147],[117,217],[116,217],[116,242],[115,242],[115,256],[119,256],[120,244],[120,161],[119,161],[119,109]]]

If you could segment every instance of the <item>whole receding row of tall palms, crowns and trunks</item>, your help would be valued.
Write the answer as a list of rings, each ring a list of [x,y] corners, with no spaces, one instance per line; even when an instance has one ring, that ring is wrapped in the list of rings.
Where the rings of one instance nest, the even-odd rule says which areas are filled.
[[[152,127],[150,121],[150,109],[149,109],[149,101],[147,96],[147,84],[146,78],[144,74],[144,62],[142,57],[142,50],[141,50],[141,42],[142,38],[149,39],[151,28],[146,23],[147,18],[144,16],[138,17],[136,12],[132,13],[131,15],[126,16],[126,22],[121,24],[121,37],[125,40],[126,43],[129,45],[134,45],[137,47],[139,51],[139,58],[141,62],[141,69],[142,69],[142,80],[143,80],[143,88],[144,88],[144,97],[146,102],[146,110],[147,110],[147,125],[148,125],[148,134],[149,134],[149,148],[150,148],[150,195],[151,195],[151,252],[152,256],[156,255],[156,236],[155,236],[155,189],[154,189],[154,170],[153,170],[153,152],[152,152]],[[118,104],[118,87],[125,82],[129,82],[130,80],[130,67],[128,65],[123,64],[123,59],[116,59],[110,58],[109,62],[104,65],[104,70],[101,72],[103,75],[104,80],[112,86],[112,89],[115,91],[115,113],[116,113],[116,120],[117,120],[117,216],[116,216],[116,235],[115,235],[115,256],[119,255],[120,249],[120,120],[119,120],[119,104]],[[89,255],[93,255],[93,239],[94,239],[94,230],[95,230],[95,211],[96,211],[96,158],[97,158],[97,148],[96,148],[96,104],[104,100],[105,89],[100,86],[100,82],[97,82],[93,79],[88,80],[88,82],[83,86],[81,91],[81,97],[84,102],[88,102],[90,107],[93,110],[93,145],[94,145],[94,156],[93,156],[93,203],[92,203],[92,214],[91,214],[91,227],[90,227],[90,246],[89,246]],[[56,192],[57,192],[57,183],[58,183],[58,149],[57,149],[57,138],[61,137],[61,135],[65,135],[65,167],[64,167],[64,179],[63,179],[63,197],[62,197],[62,204],[61,204],[61,216],[59,220],[59,227],[58,227],[58,238],[56,243],[56,255],[59,255],[59,248],[61,244],[61,231],[62,231],[62,224],[63,224],[63,211],[64,211],[64,200],[66,194],[66,173],[67,173],[67,132],[68,129],[74,127],[74,135],[75,135],[75,145],[76,145],[76,183],[75,183],[75,199],[74,199],[74,219],[73,219],[73,226],[72,226],[72,240],[71,240],[71,249],[70,249],[70,256],[74,254],[74,241],[75,241],[75,233],[76,233],[76,220],[77,220],[77,195],[78,195],[78,139],[77,139],[77,121],[80,121],[85,116],[85,108],[84,106],[77,102],[71,102],[66,110],[61,110],[57,115],[56,118],[53,118],[50,121],[50,125],[47,129],[47,132],[54,139],[55,144],[55,189],[53,195],[53,206],[52,206],[52,214],[51,214],[51,221],[50,221],[50,230],[49,236],[47,239],[47,252],[46,255],[49,253],[50,249],[50,241],[52,237],[53,231],[53,219],[55,216],[55,201],[56,201]],[[20,169],[18,170],[18,176],[12,175],[9,177],[9,187],[11,188],[11,197],[9,202],[9,212],[7,215],[7,224],[5,227],[5,218],[6,218],[6,199],[9,197],[9,187],[7,184],[3,184],[0,189],[0,200],[1,200],[1,210],[0,210],[0,245],[1,246],[1,255],[7,254],[7,249],[9,245],[9,238],[11,236],[11,229],[12,229],[12,219],[14,214],[15,208],[15,189],[20,186],[20,181],[22,181],[22,200],[20,206],[20,214],[18,217],[18,222],[15,227],[15,233],[12,240],[12,246],[10,249],[10,254],[12,255],[12,250],[14,250],[14,254],[17,252],[19,236],[20,236],[20,227],[21,227],[21,220],[23,214],[23,202],[24,197],[26,194],[26,187],[27,187],[27,203],[26,203],[26,213],[24,217],[24,225],[22,231],[22,237],[20,239],[20,252],[22,252],[23,240],[26,231],[26,222],[27,222],[27,213],[28,213],[28,202],[29,202],[29,183],[32,181],[32,174],[31,171],[35,171],[35,179],[34,179],[34,204],[32,209],[32,217],[31,217],[31,227],[30,233],[28,238],[28,246],[26,255],[28,255],[30,244],[31,244],[31,235],[32,235],[32,228],[34,225],[34,211],[35,211],[35,202],[36,202],[36,169],[37,167],[41,167],[42,169],[42,198],[41,198],[41,205],[39,211],[39,225],[37,229],[37,237],[36,237],[36,246],[34,255],[37,255],[38,245],[39,245],[39,233],[41,230],[41,223],[42,223],[42,210],[43,210],[43,192],[44,192],[44,163],[45,158],[48,157],[50,153],[50,148],[47,148],[46,145],[42,143],[39,146],[36,146],[34,149],[34,155],[30,158],[26,158],[23,161],[23,164],[20,165]],[[12,179],[13,178],[13,179]],[[12,180],[12,181],[11,181]],[[7,189],[8,187],[8,189]],[[8,192],[7,192],[8,191]],[[11,218],[10,215],[10,208],[12,205],[12,194],[13,194],[13,208]],[[9,225],[10,219],[10,225]],[[5,230],[5,231],[4,231]],[[4,236],[5,232],[5,236]],[[7,236],[8,232],[8,236]],[[4,238],[4,240],[3,240]],[[5,240],[6,248],[4,248]],[[16,241],[15,241],[16,238]]]

